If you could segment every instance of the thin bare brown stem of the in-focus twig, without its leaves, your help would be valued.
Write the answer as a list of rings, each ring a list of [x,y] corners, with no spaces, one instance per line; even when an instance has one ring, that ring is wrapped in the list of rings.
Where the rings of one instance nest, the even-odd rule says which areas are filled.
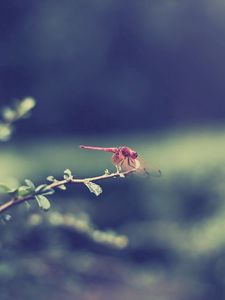
[[[125,177],[131,173],[134,173],[136,169],[129,170],[126,172],[115,172],[111,174],[103,174],[95,177],[89,177],[89,178],[82,178],[82,179],[76,179],[76,178],[69,178],[69,179],[63,179],[60,181],[55,181],[51,184],[48,184],[46,188],[48,189],[55,189],[57,187],[63,186],[63,185],[68,185],[68,184],[85,184],[87,182],[93,182],[93,181],[98,181],[98,180],[103,180],[103,179],[110,179],[110,178],[117,178],[117,177]],[[13,206],[16,206],[18,204],[21,204],[25,201],[30,201],[35,199],[35,193],[31,193],[26,196],[20,196],[20,197],[14,197],[8,201],[6,201],[4,204],[0,205],[0,214],[9,210]]]

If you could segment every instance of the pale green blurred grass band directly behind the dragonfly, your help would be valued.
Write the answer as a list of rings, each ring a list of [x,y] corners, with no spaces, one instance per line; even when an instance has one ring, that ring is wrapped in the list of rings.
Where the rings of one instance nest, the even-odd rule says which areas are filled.
[[[225,164],[225,130],[177,130],[166,134],[119,137],[72,137],[31,139],[1,145],[1,177],[19,178],[32,174],[61,173],[67,166],[77,173],[101,172],[112,168],[110,154],[79,149],[80,144],[99,146],[129,145],[138,150],[146,162],[160,166],[168,177],[175,172],[191,176]],[[84,163],[85,162],[85,163]],[[220,170],[221,171],[221,170]]]

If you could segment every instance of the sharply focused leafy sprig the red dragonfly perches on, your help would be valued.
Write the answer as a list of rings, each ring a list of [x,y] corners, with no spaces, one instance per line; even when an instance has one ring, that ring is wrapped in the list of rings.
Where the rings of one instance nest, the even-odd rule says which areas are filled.
[[[0,214],[8,211],[13,206],[31,200],[36,200],[41,209],[48,210],[51,206],[51,203],[47,196],[54,194],[57,189],[66,190],[66,187],[69,184],[84,184],[91,193],[99,196],[102,193],[102,188],[100,185],[96,184],[95,181],[118,177],[124,178],[135,171],[136,170],[133,169],[126,172],[117,171],[114,173],[109,173],[107,170],[103,175],[89,178],[75,178],[72,175],[71,170],[66,169],[64,171],[63,179],[58,180],[53,176],[48,176],[47,180],[51,183],[41,184],[37,187],[29,179],[26,179],[25,184],[21,185],[17,189],[10,189],[8,186],[0,184],[0,193],[3,195],[11,195],[11,199],[0,205]]]

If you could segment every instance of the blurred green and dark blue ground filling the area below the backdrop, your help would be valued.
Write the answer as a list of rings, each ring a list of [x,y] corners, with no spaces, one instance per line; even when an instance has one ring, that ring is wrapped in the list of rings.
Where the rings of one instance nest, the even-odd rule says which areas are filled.
[[[1,300],[224,299],[224,141],[221,127],[2,144],[0,181],[12,185],[60,178],[68,167],[77,177],[113,170],[110,154],[81,143],[132,146],[162,176],[100,182],[99,197],[71,186],[51,196],[49,212],[34,203],[13,208],[0,227]],[[59,214],[76,226],[60,224]],[[127,247],[101,232],[126,236]]]

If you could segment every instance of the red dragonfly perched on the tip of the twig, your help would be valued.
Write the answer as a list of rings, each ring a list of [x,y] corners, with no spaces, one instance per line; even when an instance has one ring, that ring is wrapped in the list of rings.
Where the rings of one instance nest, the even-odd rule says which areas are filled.
[[[130,147],[95,147],[80,145],[80,148],[113,153],[112,163],[118,172],[134,171],[139,174],[161,176],[161,171],[155,167],[147,170],[143,161],[139,158],[137,151]]]

